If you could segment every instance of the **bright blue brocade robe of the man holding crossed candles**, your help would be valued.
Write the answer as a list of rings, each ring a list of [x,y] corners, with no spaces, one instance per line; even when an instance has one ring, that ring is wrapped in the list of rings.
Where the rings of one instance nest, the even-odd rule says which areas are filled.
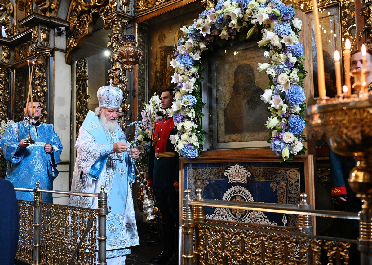
[[[36,122],[30,127],[35,144],[24,148],[19,145],[27,138],[28,124],[20,121],[10,125],[0,140],[3,155],[9,161],[6,179],[17,188],[35,188],[40,182],[42,189],[53,189],[53,180],[58,176],[57,164],[61,163],[62,144],[52,124]],[[46,153],[45,143],[51,144],[52,153]],[[16,192],[17,199],[33,200],[33,192]],[[52,194],[43,193],[43,202],[52,203]]]

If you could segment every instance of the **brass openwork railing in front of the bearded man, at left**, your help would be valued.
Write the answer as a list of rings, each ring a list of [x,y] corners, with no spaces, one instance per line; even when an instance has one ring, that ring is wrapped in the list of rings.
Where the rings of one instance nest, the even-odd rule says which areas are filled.
[[[105,186],[100,188],[98,194],[40,189],[38,182],[34,189],[14,188],[34,194],[33,201],[18,200],[16,259],[32,265],[93,265],[98,252],[98,264],[106,265],[106,215],[109,211]],[[98,208],[44,203],[43,192],[96,197]]]

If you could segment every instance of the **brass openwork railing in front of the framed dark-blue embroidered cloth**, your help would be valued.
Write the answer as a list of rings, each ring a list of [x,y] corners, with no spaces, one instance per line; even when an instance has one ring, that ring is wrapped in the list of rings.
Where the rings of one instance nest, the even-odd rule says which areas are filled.
[[[203,199],[202,190],[190,198],[190,190],[182,202],[180,227],[180,264],[356,264],[350,260],[350,246],[357,245],[361,264],[372,264],[371,238],[358,240],[316,236],[313,216],[359,220],[358,213],[312,210],[307,194],[301,194],[298,205],[269,204]],[[205,207],[264,211],[299,215],[298,227],[264,226],[232,223],[205,218]],[[363,229],[361,229],[363,230]],[[362,231],[361,233],[365,233]],[[367,246],[367,247],[366,247]]]

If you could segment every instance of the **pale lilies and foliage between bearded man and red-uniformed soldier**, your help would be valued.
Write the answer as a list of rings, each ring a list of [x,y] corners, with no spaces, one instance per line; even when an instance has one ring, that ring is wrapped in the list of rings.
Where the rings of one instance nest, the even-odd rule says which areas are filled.
[[[151,135],[153,134],[154,124],[162,118],[156,112],[165,113],[165,111],[161,109],[160,99],[155,94],[150,98],[148,104],[143,103],[143,106],[144,109],[141,111],[142,122],[147,124],[147,126],[140,125],[140,128],[138,128],[137,149],[140,151],[138,161],[147,169],[148,152],[151,147]],[[134,140],[131,141],[131,144],[134,144]]]

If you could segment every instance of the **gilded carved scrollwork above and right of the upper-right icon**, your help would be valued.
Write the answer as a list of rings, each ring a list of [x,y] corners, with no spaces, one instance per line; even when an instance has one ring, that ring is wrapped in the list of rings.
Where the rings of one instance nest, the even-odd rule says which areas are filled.
[[[302,12],[312,10],[311,0],[285,0],[286,5],[293,4]],[[340,3],[341,38],[349,38],[352,50],[356,48],[356,26],[355,26],[355,3],[354,0],[320,0],[318,6],[328,6],[333,3]],[[341,42],[343,46],[343,42]]]

